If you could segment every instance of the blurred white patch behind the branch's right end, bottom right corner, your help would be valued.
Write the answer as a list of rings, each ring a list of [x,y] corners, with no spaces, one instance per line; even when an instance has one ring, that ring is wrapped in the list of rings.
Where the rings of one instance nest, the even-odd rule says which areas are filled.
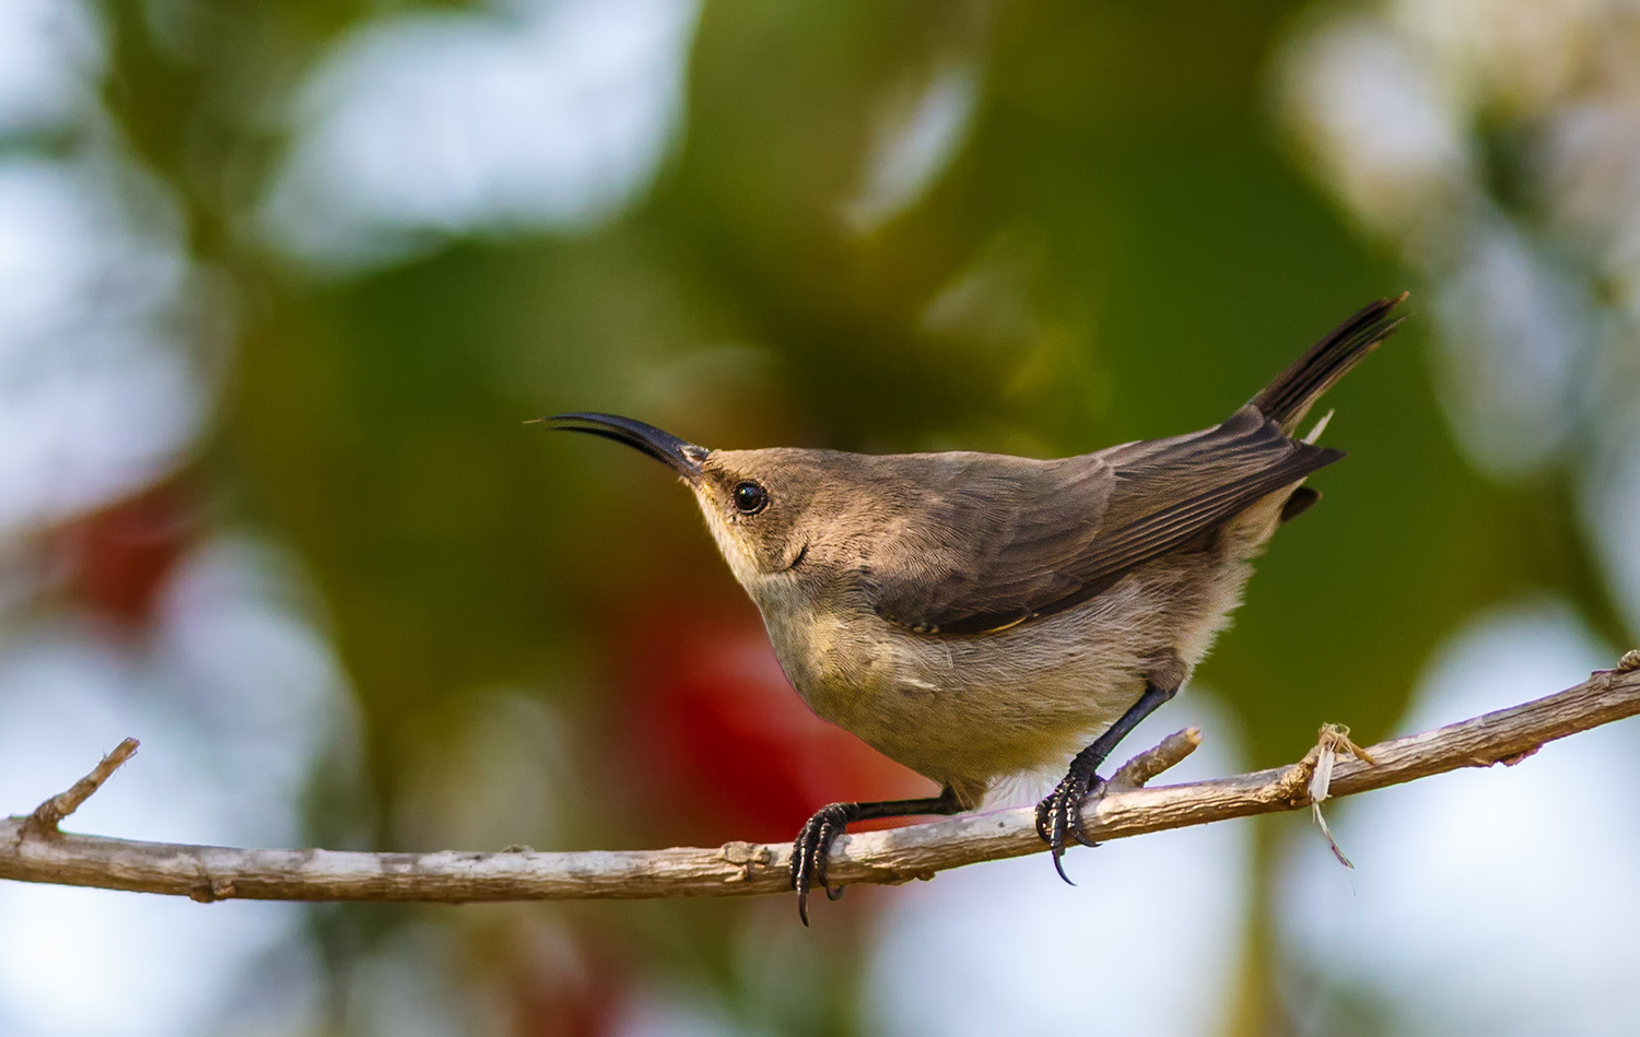
[[[1571,686],[1615,655],[1555,603],[1481,616],[1438,655],[1402,731]],[[1640,958],[1640,729],[1599,727],[1514,768],[1351,798],[1292,847],[1278,904],[1302,1034],[1633,1032]],[[1353,891],[1351,891],[1353,885]],[[1309,973],[1305,976],[1305,973]],[[1376,1029],[1374,1029],[1376,1027]]]

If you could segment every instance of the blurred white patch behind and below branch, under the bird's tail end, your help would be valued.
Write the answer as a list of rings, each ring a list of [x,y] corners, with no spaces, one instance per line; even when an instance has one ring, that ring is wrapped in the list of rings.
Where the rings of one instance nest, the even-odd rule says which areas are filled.
[[[1241,768],[1230,721],[1192,691],[1140,724],[1117,757],[1189,724],[1202,727],[1202,747],[1158,781]],[[1209,824],[1118,839],[1073,849],[1064,865],[1079,885],[1033,855],[895,891],[869,949],[866,1029],[1059,1034],[1089,1006],[1099,1006],[1099,1032],[1220,1029],[1240,970],[1251,831]]]

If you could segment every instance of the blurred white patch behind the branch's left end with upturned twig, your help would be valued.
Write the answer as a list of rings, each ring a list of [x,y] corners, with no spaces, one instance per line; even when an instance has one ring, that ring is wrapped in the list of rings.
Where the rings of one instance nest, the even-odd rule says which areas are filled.
[[[8,647],[0,673],[0,798],[26,811],[125,736],[143,749],[66,824],[153,839],[233,831],[221,775],[192,765],[198,732],[134,695],[138,677],[92,641]],[[11,1037],[195,1032],[248,958],[298,924],[289,904],[225,904],[0,885],[0,1032]],[[95,976],[87,983],[85,976]]]

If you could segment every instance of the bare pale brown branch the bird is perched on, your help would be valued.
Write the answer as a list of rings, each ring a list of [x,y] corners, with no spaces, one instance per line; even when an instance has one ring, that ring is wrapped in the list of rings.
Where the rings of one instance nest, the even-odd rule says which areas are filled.
[[[1358,755],[1337,754],[1330,796],[1456,770],[1519,763],[1545,742],[1640,713],[1640,654],[1615,670],[1522,706],[1424,734],[1391,739]],[[1091,809],[1089,835],[1125,839],[1309,806],[1319,759],[1189,785],[1141,788],[1189,755],[1184,731],[1125,765]],[[110,760],[116,754],[110,755]],[[51,803],[67,809],[118,767],[108,760]],[[87,783],[90,783],[87,786]],[[84,791],[82,791],[84,790]],[[77,798],[75,798],[77,796]],[[54,808],[56,809],[56,808]],[[39,814],[36,811],[36,814]],[[49,817],[51,811],[39,814]],[[932,824],[848,835],[833,849],[831,883],[904,883],[945,868],[1041,852],[1032,809],[964,814]],[[789,891],[789,845],[731,842],[717,849],[551,854],[353,854],[169,845],[57,832],[36,816],[0,822],[0,878],[192,896],[300,901],[523,901],[571,898],[748,896]]]

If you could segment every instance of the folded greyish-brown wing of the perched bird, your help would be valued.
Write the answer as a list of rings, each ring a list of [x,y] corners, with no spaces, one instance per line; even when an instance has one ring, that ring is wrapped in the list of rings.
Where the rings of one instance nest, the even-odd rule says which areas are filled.
[[[1200,432],[1056,462],[930,459],[943,467],[902,485],[913,506],[861,575],[884,619],[994,631],[1087,601],[1340,457],[1245,406]]]

